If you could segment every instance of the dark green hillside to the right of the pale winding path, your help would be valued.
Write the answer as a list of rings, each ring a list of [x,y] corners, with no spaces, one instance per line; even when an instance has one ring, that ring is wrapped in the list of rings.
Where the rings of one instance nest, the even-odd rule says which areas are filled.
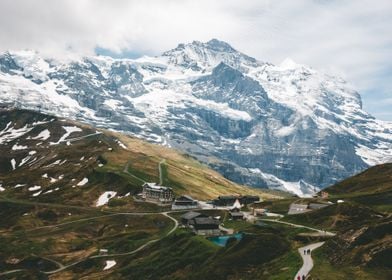
[[[392,164],[369,168],[325,189],[329,200],[341,203],[284,218],[337,233],[316,253],[312,275],[319,279],[390,278],[391,174]]]

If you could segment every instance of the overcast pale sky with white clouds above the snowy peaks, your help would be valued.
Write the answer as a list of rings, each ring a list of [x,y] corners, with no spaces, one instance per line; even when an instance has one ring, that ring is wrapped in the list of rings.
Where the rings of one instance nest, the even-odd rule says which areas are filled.
[[[0,51],[135,57],[217,38],[339,74],[392,120],[391,0],[1,0],[0,15]]]

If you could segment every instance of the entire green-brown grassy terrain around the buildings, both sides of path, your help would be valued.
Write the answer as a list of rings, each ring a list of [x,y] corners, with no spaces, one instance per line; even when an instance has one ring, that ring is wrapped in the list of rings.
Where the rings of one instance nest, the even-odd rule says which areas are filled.
[[[313,242],[299,236],[304,228],[206,210],[245,233],[218,247],[175,229],[181,213],[167,216],[133,195],[143,182],[162,181],[198,199],[259,195],[260,205],[282,214],[294,201],[317,200],[235,184],[190,155],[121,133],[25,110],[0,113],[1,279],[293,279],[302,263],[297,248]],[[315,252],[312,279],[390,279],[391,168],[377,166],[327,189],[329,200],[343,203],[284,218],[337,233]],[[97,207],[107,191],[116,196]],[[104,270],[109,260],[116,265]]]

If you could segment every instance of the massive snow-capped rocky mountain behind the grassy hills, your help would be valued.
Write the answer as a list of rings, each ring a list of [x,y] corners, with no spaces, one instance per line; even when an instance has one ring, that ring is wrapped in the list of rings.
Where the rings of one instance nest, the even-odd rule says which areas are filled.
[[[159,57],[0,56],[0,102],[178,148],[257,187],[309,194],[392,160],[392,123],[339,77],[213,39]]]

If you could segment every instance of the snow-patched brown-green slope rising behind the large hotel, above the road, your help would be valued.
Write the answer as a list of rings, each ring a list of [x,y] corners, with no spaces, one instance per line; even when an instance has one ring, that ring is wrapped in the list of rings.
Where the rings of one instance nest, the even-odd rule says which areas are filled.
[[[197,199],[240,193],[274,197],[232,183],[175,150],[69,120],[3,110],[0,129],[2,197],[91,206],[112,191],[121,204],[134,207],[130,197],[143,182],[159,182],[159,164],[163,183],[176,194]]]

